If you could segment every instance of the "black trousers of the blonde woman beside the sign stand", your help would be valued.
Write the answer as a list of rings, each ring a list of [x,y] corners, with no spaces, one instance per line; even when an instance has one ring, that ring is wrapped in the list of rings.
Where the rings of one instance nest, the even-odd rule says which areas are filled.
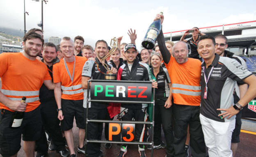
[[[167,144],[166,155],[167,157],[172,157],[174,155],[174,135],[172,127],[173,106],[165,108],[166,100],[167,99],[162,98],[156,99],[155,101],[154,145],[158,146],[161,144],[161,132],[163,128]]]

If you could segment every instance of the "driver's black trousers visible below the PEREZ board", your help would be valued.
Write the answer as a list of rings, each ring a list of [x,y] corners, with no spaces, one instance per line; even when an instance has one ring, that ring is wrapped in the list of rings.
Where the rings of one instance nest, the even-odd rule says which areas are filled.
[[[123,111],[124,108],[121,107],[120,111]],[[146,108],[142,109],[128,109],[125,115],[121,118],[123,121],[132,121],[134,118],[135,121],[146,122]],[[135,136],[137,142],[146,142],[146,125],[145,124],[135,124]],[[122,146],[127,146],[123,144]],[[140,144],[140,148],[144,148],[144,145]]]

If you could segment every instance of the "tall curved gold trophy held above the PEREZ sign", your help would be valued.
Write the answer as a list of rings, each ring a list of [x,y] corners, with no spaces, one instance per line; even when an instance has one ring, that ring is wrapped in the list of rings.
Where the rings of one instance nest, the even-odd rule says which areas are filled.
[[[102,65],[104,66],[104,68],[107,70],[107,73],[104,73],[105,75],[105,80],[117,80],[117,74],[113,74],[112,70],[109,69],[109,67],[107,66],[107,63],[105,63],[105,60],[107,59],[107,57],[110,57],[117,49],[118,43],[117,43],[117,38],[114,37],[113,39],[111,39],[110,41],[110,47],[111,47],[111,51],[101,59],[102,61]]]

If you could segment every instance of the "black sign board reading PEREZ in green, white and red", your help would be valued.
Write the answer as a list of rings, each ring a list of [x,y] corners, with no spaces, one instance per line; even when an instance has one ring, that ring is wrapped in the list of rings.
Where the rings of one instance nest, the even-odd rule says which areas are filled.
[[[91,100],[151,102],[150,81],[91,80]]]

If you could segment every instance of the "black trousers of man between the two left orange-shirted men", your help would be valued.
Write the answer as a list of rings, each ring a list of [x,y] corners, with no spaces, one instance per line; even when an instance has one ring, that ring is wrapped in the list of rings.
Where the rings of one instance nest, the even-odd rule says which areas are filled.
[[[52,137],[53,143],[57,146],[57,150],[65,148],[65,142],[59,126],[56,101],[52,100],[47,103],[41,103],[41,107],[43,129],[41,131],[41,138],[36,141],[36,151],[48,152],[45,130],[48,131],[50,137]]]

